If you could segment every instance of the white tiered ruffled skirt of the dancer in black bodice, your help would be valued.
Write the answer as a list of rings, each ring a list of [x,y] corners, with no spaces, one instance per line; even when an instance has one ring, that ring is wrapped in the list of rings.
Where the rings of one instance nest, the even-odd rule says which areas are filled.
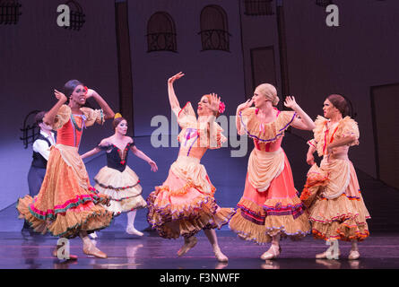
[[[122,172],[103,167],[94,178],[94,186],[101,194],[110,197],[108,211],[117,214],[127,213],[147,206],[142,195],[143,188],[139,178],[128,166]]]

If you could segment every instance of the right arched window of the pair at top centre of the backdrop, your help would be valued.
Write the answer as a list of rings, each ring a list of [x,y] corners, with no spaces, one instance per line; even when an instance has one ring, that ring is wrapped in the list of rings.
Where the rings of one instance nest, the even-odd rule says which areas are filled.
[[[203,51],[222,50],[230,52],[230,33],[227,14],[218,5],[204,7],[201,12],[201,41]]]

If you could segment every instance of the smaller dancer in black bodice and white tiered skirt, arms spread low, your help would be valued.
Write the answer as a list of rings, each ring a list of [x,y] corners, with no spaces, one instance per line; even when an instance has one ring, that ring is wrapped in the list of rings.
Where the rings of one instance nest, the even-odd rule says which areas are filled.
[[[129,150],[138,158],[147,161],[152,171],[157,171],[158,167],[152,159],[135,146],[130,136],[126,136],[127,121],[124,117],[117,113],[112,125],[115,134],[103,139],[90,152],[82,154],[82,159],[101,150],[107,151],[107,166],[103,167],[94,178],[96,182],[94,188],[110,197],[110,205],[104,205],[104,208],[115,215],[127,214],[127,233],[143,236],[143,232],[134,228],[134,218],[137,209],[146,207],[147,203],[141,196],[143,188],[139,185],[139,178],[127,166]]]

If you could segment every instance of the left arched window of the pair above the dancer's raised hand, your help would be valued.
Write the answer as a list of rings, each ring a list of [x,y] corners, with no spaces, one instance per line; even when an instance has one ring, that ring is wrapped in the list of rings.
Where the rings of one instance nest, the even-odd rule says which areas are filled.
[[[176,26],[172,17],[166,12],[153,13],[147,24],[147,52],[177,52]]]

